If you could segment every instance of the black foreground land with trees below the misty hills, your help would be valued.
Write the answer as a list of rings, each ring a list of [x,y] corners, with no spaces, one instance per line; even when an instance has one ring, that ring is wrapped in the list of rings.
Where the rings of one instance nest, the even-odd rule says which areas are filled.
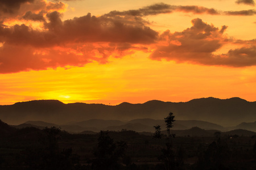
[[[166,169],[161,156],[168,136],[0,126],[0,169]],[[254,136],[221,133],[172,138],[172,169],[256,169],[255,141]]]

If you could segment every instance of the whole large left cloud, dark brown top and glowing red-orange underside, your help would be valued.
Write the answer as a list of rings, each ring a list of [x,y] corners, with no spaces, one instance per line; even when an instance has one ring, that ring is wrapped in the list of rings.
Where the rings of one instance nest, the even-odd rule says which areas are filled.
[[[57,11],[48,12],[44,20],[42,15],[28,11],[23,16],[42,22],[42,30],[0,25],[0,73],[106,63],[110,56],[146,51],[158,39],[158,32],[125,19],[88,14],[63,21]]]

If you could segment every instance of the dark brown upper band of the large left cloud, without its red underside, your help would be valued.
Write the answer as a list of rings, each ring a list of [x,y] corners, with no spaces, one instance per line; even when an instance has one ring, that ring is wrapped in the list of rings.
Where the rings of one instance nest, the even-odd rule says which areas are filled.
[[[1,27],[0,36],[7,44],[36,47],[50,47],[66,43],[79,42],[128,42],[131,44],[151,44],[157,39],[158,33],[145,25],[129,25],[122,20],[96,17],[90,14],[61,20],[59,12],[47,14],[49,22],[44,23],[44,31],[38,31],[27,25]]]

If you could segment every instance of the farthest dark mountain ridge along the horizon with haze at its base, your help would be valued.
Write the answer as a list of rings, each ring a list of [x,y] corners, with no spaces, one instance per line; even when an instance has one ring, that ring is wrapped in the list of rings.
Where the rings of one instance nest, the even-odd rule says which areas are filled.
[[[222,129],[223,126],[236,126],[241,122],[256,121],[256,102],[249,102],[238,97],[231,99],[209,97],[180,103],[152,100],[143,104],[121,103],[115,106],[85,103],[64,104],[58,100],[34,100],[13,105],[0,105],[0,119],[13,125],[40,120],[57,125],[72,125],[72,122],[79,122],[77,126],[93,128],[90,127],[90,122],[86,121],[100,119],[117,120],[109,121],[109,126],[112,126],[110,128],[114,128],[113,126],[125,128],[122,122],[128,124],[130,120],[144,118],[163,120],[169,112],[174,113],[175,119],[179,120],[176,121],[176,127],[179,126],[180,129],[191,128],[195,124],[195,121],[187,122],[185,125],[180,124],[181,120],[212,122],[216,129]],[[137,124],[137,122],[129,123]],[[94,124],[95,122],[92,123]],[[159,121],[158,124],[162,123]],[[250,125],[245,123],[241,126]],[[97,127],[101,128],[100,122]],[[204,126],[204,129],[208,129],[207,127],[208,124]]]

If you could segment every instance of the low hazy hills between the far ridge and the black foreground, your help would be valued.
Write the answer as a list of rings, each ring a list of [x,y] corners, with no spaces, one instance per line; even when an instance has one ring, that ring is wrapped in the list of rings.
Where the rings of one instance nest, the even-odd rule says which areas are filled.
[[[251,123],[248,123],[249,125]],[[98,133],[100,130],[110,130],[110,131],[122,131],[122,130],[133,130],[137,132],[148,132],[148,133],[154,133],[155,128],[154,126],[160,125],[162,130],[166,130],[166,125],[164,124],[163,120],[153,120],[153,119],[135,119],[128,122],[122,122],[117,120],[88,120],[88,121],[81,121],[81,122],[72,122],[68,125],[57,125],[57,124],[51,124],[48,122],[43,121],[27,121],[20,125],[11,125],[14,128],[22,129],[26,127],[34,127],[38,129],[44,129],[46,127],[50,128],[52,126],[55,126],[57,128],[61,128],[61,130],[68,131],[69,133],[82,133],[83,131],[87,131],[86,133]],[[236,130],[236,129],[243,129],[243,130],[249,130],[249,131],[255,131],[255,127],[250,128],[250,126],[245,126],[245,124],[242,124],[243,127],[240,125],[224,128],[217,124],[212,124],[210,122],[205,121],[182,121],[182,120],[176,120],[174,122],[174,127],[172,128],[172,131],[175,131],[179,135],[184,135],[186,130],[193,129],[193,128],[199,128],[202,130],[205,130],[204,133],[199,132],[202,135],[212,135],[216,131],[222,131],[222,133],[226,133],[226,131],[230,130]],[[183,131],[183,133],[180,133],[180,131]],[[193,134],[193,132],[189,132],[189,134]],[[241,134],[241,133],[237,133]],[[195,135],[195,134],[194,134]]]

